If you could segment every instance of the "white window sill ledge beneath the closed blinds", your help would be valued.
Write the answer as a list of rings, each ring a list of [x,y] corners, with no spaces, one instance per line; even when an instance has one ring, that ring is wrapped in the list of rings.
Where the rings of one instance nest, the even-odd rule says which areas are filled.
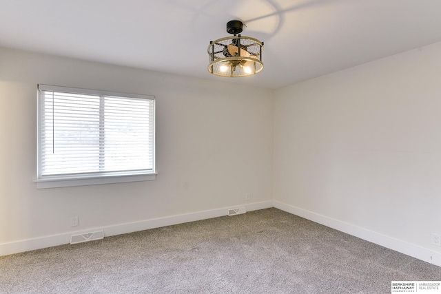
[[[118,182],[141,182],[155,179],[156,174],[140,174],[130,176],[107,176],[99,178],[41,179],[34,180],[33,182],[37,183],[37,189],[49,189],[59,187],[114,184]]]

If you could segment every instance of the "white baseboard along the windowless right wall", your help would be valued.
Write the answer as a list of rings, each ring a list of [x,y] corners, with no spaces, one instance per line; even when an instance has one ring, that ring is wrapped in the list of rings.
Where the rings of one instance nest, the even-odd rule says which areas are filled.
[[[378,244],[380,246],[398,251],[400,253],[409,255],[413,258],[418,258],[424,262],[429,262],[437,266],[441,266],[441,253],[425,249],[423,247],[404,242],[395,238],[391,238],[387,235],[382,235],[367,229],[363,229],[353,224],[348,224],[340,220],[335,220],[334,218],[329,218],[327,216],[322,216],[318,213],[307,211],[305,209],[300,209],[283,202],[274,200],[274,207],[277,209],[292,213],[296,216],[306,218],[307,220],[312,220],[313,222],[318,222],[326,227],[342,231],[343,233],[348,233],[349,235],[356,236],[360,239],[367,240],[369,242]]]

